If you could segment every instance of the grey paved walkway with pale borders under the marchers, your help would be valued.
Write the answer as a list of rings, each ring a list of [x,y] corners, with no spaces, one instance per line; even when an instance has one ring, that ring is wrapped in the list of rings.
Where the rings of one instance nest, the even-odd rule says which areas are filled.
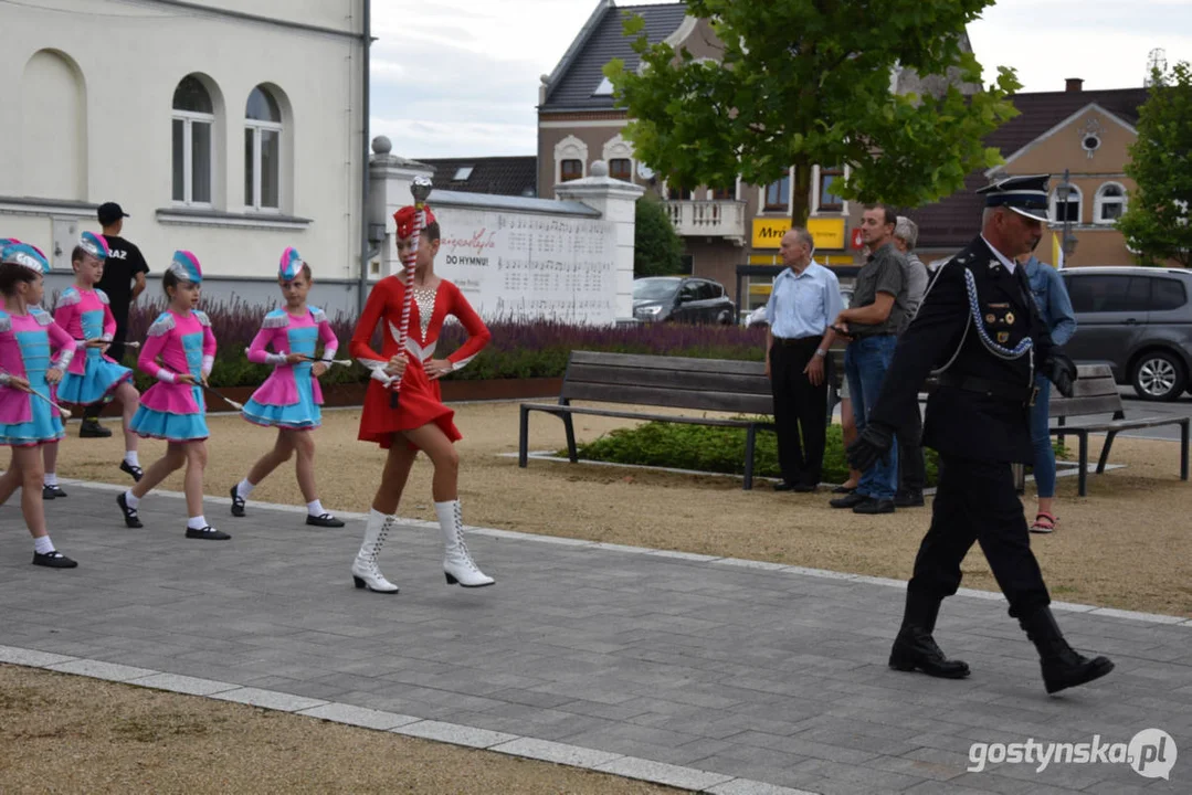
[[[75,571],[30,566],[18,509],[0,508],[0,662],[721,795],[1192,790],[1192,621],[1057,611],[1078,648],[1118,667],[1048,697],[989,595],[945,605],[937,638],[974,669],[948,682],[886,667],[901,583],[478,530],[470,547],[498,582],[465,591],[443,583],[437,529],[410,522],[383,557],[402,586],[386,597],[352,588],[359,517],[325,530],[250,504],[232,520],[210,498],[234,540],[187,541],[178,496],[150,496],[145,529],[129,530],[117,489],[67,490],[48,513]],[[1182,752],[1171,781],[1129,764],[967,770],[973,743],[1129,743],[1149,727]]]

